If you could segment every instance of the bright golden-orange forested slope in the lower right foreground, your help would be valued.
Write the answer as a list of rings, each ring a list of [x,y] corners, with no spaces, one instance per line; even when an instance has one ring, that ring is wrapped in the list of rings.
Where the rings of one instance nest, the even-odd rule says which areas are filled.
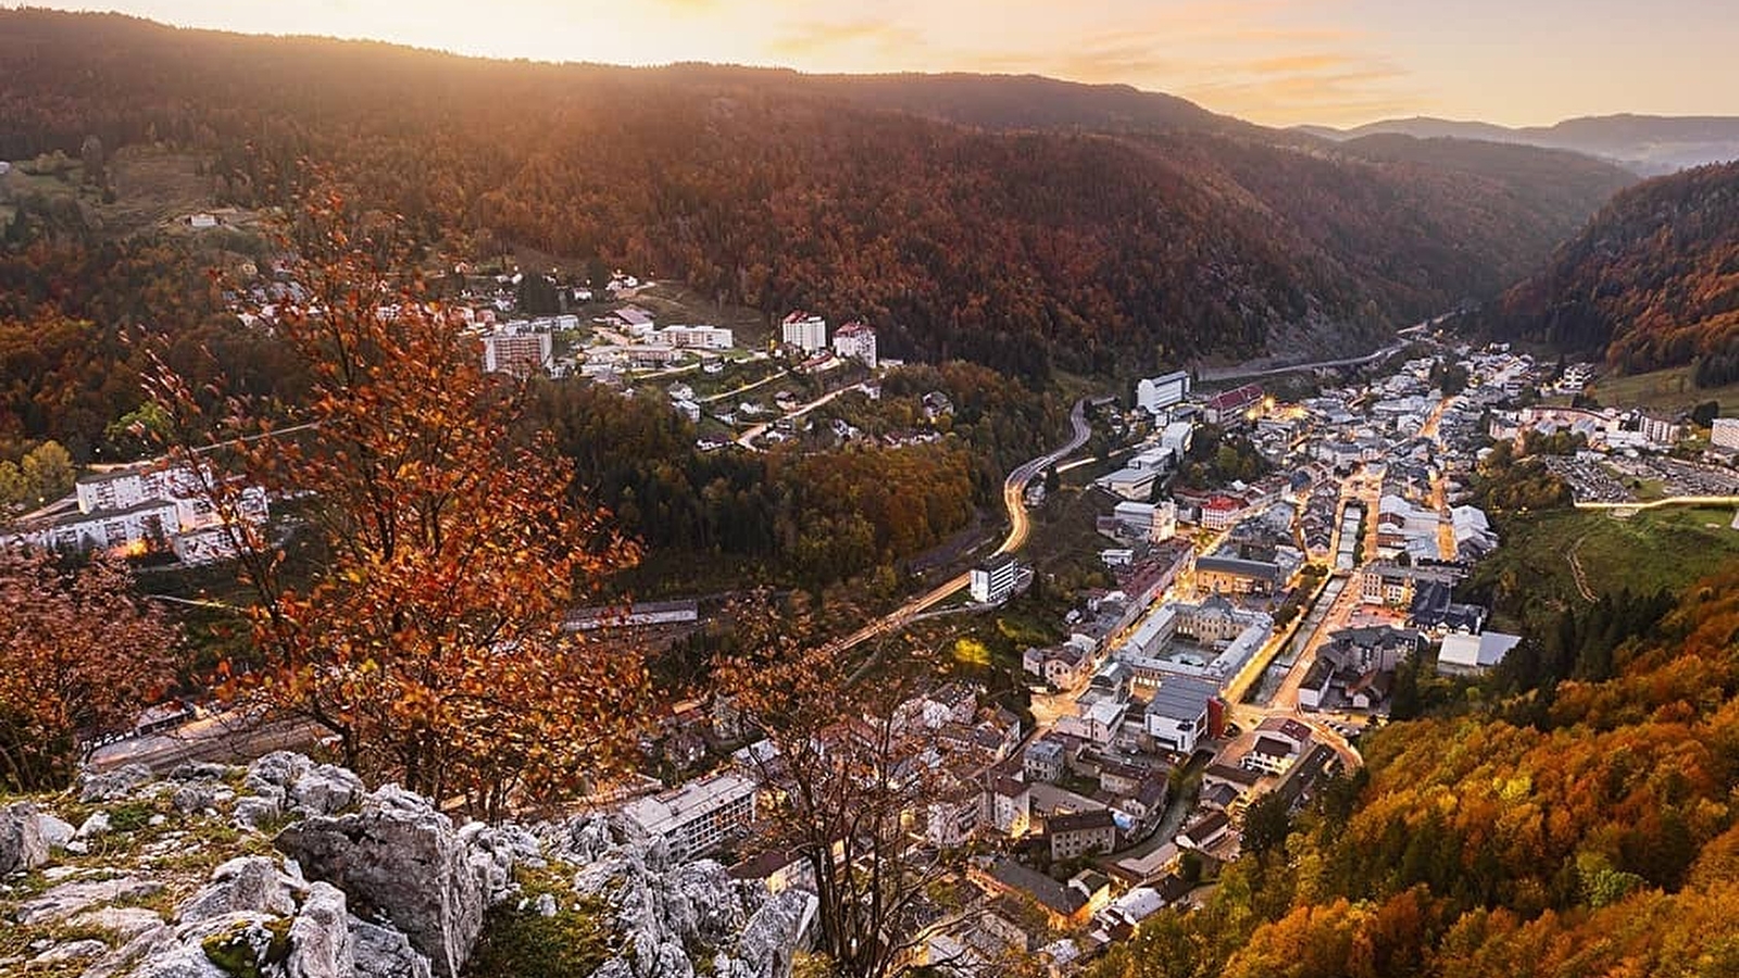
[[[1734,975],[1739,576],[1657,611],[1586,635],[1610,660],[1534,658],[1391,724],[1290,825],[1252,807],[1209,907],[1094,975]]]

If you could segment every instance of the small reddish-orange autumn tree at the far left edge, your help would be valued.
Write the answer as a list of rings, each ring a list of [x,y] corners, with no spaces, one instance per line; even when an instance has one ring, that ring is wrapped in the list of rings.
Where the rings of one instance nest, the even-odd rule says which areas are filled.
[[[0,790],[71,780],[83,734],[130,727],[174,684],[176,642],[122,564],[0,548]]]

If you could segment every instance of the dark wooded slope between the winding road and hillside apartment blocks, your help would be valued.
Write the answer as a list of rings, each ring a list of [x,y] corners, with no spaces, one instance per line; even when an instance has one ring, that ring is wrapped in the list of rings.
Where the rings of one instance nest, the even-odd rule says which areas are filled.
[[[628,583],[716,590],[696,574],[730,567],[732,586],[821,590],[875,573],[870,597],[885,599],[906,560],[967,527],[976,508],[1000,506],[1003,473],[1066,430],[1068,405],[1054,395],[972,364],[894,371],[882,400],[856,404],[922,418],[918,399],[932,390],[955,404],[949,437],[897,449],[703,452],[694,425],[666,404],[591,385],[537,385],[529,421],[555,433],[579,482],[647,545],[650,573]]]

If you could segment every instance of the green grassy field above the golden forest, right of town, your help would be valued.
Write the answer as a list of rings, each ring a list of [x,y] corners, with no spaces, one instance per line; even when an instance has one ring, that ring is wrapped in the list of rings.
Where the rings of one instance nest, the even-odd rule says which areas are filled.
[[[1496,626],[1530,628],[1588,593],[1678,590],[1739,562],[1730,508],[1662,506],[1629,519],[1600,510],[1509,517],[1502,546],[1480,564],[1473,590],[1492,588]],[[1581,583],[1577,581],[1581,567]]]

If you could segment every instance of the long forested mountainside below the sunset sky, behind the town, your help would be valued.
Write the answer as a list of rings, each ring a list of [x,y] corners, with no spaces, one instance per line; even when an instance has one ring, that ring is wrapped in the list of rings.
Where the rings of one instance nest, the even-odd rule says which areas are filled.
[[[969,90],[983,122],[1019,124],[984,94],[998,80],[890,85],[0,12],[0,157],[172,144],[243,207],[290,200],[315,160],[452,254],[602,256],[1033,379],[1256,353],[1280,325],[1374,336],[1496,294],[1628,179],[1553,158],[1577,190],[1536,205],[1501,172],[1301,146],[1162,96],[1134,99],[1163,106],[1136,132],[1111,122],[1127,90],[1083,87],[1045,120],[1075,104],[1122,134],[991,132],[871,106]]]

